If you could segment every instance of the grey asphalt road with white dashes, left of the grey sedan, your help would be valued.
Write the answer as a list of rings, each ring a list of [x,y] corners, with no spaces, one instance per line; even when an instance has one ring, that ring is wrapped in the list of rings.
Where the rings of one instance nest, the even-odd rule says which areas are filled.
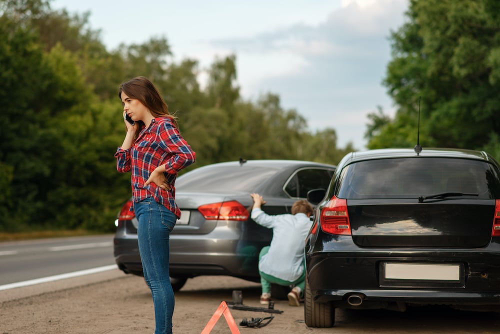
[[[112,234],[0,242],[0,285],[110,264]]]

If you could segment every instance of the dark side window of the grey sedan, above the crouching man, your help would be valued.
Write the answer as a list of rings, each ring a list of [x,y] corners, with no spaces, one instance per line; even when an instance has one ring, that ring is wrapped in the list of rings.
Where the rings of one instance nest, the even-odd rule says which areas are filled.
[[[300,169],[288,180],[284,191],[290,197],[306,198],[311,189],[326,189],[330,183],[333,170],[308,168]]]

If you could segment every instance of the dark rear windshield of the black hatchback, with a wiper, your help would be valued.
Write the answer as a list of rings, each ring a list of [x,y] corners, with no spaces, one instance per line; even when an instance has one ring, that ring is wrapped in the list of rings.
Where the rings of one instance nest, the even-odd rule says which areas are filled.
[[[412,157],[367,160],[346,166],[337,196],[347,199],[415,198],[443,192],[498,198],[498,172],[484,161]]]

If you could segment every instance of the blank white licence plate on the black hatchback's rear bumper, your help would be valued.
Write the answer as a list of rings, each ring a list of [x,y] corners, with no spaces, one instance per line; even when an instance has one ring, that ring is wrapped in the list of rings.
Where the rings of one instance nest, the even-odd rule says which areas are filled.
[[[384,278],[460,281],[460,265],[384,263]]]

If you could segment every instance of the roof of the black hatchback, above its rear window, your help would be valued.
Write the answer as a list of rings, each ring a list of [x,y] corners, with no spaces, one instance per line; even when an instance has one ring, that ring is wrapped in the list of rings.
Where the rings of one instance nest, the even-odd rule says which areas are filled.
[[[413,148],[380,148],[366,151],[351,152],[344,156],[340,164],[348,164],[361,160],[373,160],[394,157],[455,157],[493,162],[494,159],[484,151],[459,148],[422,148],[416,153]],[[493,162],[494,163],[494,162]]]

